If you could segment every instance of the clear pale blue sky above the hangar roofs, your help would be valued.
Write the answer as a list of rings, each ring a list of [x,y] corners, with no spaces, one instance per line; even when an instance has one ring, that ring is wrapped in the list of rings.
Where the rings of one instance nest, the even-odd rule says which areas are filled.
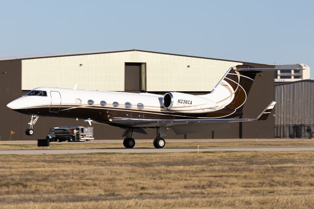
[[[148,50],[305,63],[314,0],[0,0],[0,56]]]

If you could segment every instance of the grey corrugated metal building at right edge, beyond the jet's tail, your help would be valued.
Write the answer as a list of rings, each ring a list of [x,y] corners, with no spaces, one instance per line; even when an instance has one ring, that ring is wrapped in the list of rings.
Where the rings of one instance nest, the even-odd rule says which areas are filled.
[[[314,79],[275,85],[275,136],[314,136]]]

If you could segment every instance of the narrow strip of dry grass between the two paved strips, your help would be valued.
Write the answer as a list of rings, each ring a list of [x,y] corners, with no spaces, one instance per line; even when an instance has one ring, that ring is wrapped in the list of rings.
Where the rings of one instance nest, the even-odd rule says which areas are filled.
[[[200,147],[251,147],[251,146],[314,146],[313,141],[220,141],[220,142],[171,142],[166,140],[165,148],[197,148]],[[101,148],[124,148],[122,142],[116,143],[92,143],[92,142],[54,142],[47,149],[101,149]],[[154,148],[153,140],[151,142],[136,142],[134,148]],[[38,148],[37,144],[1,144],[0,150],[8,149],[45,149]]]

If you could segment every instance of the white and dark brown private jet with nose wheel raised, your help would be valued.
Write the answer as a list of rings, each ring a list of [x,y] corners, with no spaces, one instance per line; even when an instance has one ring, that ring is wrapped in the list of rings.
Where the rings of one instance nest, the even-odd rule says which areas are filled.
[[[133,148],[133,131],[146,133],[157,129],[156,148],[163,148],[167,129],[177,134],[224,129],[229,123],[266,120],[276,102],[270,104],[256,118],[238,119],[243,115],[254,78],[268,70],[251,66],[230,68],[215,88],[205,95],[168,92],[164,95],[89,91],[66,88],[38,87],[7,106],[31,117],[27,135],[39,116],[79,118],[91,123],[103,123],[125,129],[124,146]],[[281,69],[279,69],[281,70]]]

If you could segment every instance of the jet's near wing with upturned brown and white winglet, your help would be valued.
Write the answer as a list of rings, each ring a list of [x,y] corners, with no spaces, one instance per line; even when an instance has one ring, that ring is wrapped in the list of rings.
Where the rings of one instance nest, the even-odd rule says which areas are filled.
[[[177,134],[193,133],[198,131],[212,131],[229,128],[230,123],[266,120],[276,102],[272,101],[257,118],[228,118],[228,119],[180,119],[180,120],[155,120],[137,118],[112,118],[111,122],[130,128],[171,128]]]

